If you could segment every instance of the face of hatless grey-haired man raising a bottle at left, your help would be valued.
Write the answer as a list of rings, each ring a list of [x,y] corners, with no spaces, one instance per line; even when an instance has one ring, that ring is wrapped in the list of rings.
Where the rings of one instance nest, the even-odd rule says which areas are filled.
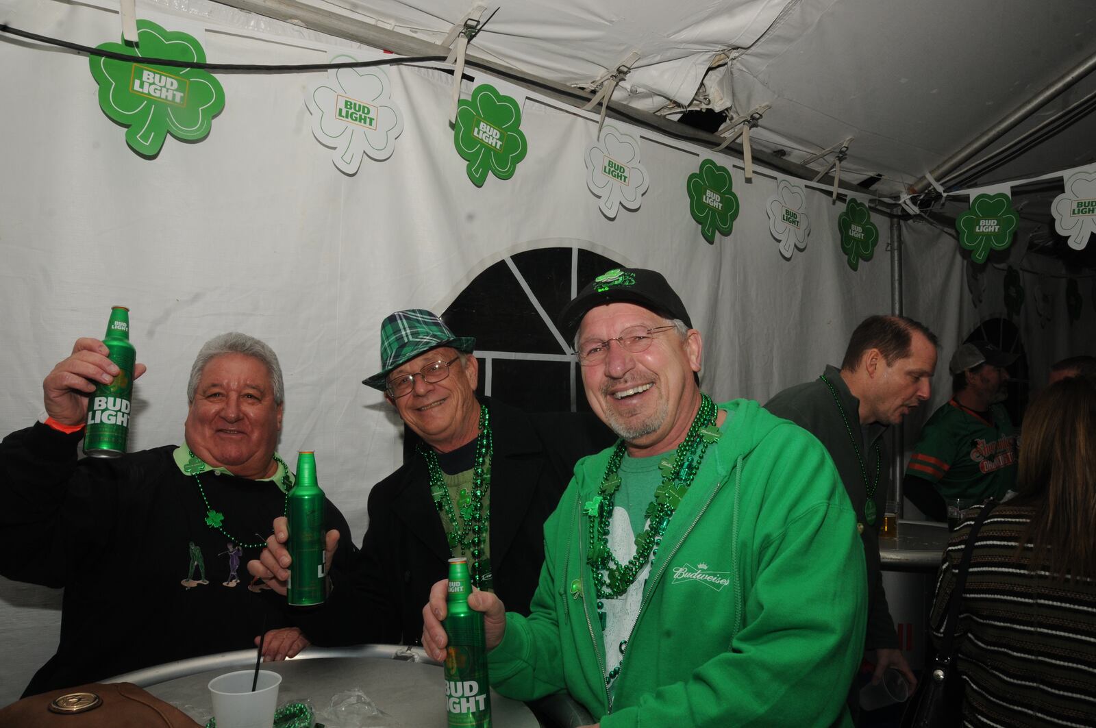
[[[246,354],[209,360],[186,414],[186,444],[195,455],[242,478],[270,477],[281,430],[282,406],[261,361]]]

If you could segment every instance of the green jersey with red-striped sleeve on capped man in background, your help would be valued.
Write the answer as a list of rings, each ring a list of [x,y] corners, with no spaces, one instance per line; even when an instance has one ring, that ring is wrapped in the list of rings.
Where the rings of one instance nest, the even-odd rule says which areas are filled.
[[[928,418],[905,473],[934,484],[945,500],[1000,500],[1016,485],[1019,448],[1004,407],[975,412],[952,399]]]

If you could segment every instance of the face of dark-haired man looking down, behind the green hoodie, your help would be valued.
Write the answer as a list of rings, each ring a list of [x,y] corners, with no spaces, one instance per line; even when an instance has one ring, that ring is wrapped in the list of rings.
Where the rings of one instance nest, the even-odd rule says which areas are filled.
[[[877,350],[872,350],[877,351]],[[865,397],[867,420],[898,424],[910,410],[926,401],[933,394],[933,374],[936,372],[936,346],[921,332],[910,334],[910,355],[888,364],[880,354],[875,364],[868,354],[868,367],[872,369],[871,395]]]

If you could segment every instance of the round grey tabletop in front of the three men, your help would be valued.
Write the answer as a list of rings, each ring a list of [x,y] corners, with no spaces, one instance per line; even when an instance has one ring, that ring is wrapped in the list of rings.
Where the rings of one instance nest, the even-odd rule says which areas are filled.
[[[395,655],[392,651],[395,650]],[[420,650],[421,652],[421,650]],[[227,659],[229,656],[232,659]],[[240,664],[236,657],[247,656],[248,663]],[[254,651],[241,650],[208,659],[184,660],[175,666],[159,666],[141,673],[118,675],[114,681],[136,682],[152,695],[171,703],[199,725],[213,715],[209,701],[209,681],[219,674],[254,667]],[[307,657],[306,657],[307,656]],[[377,659],[386,657],[387,659]],[[403,657],[401,657],[403,656]],[[396,657],[396,659],[392,659]],[[366,726],[386,728],[445,728],[445,687],[442,668],[432,661],[418,661],[410,650],[374,650],[366,657],[346,657],[345,650],[305,650],[299,657],[284,662],[264,662],[263,670],[282,675],[278,706],[308,699],[317,712],[317,719],[327,728],[341,728],[338,720],[329,720],[327,712],[331,698],[338,693],[359,690],[385,716],[377,716]],[[206,662],[203,666],[203,661]],[[185,666],[179,668],[179,664]],[[212,669],[202,669],[210,668]],[[189,672],[178,676],[180,671]],[[156,682],[148,682],[149,675]],[[491,717],[498,728],[537,728],[533,712],[524,703],[512,701],[491,691]]]

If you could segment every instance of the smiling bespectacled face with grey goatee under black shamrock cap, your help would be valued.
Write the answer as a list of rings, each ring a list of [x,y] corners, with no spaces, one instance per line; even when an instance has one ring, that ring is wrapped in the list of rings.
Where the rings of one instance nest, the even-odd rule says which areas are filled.
[[[631,327],[671,323],[641,306],[609,304],[592,308],[579,327],[579,345],[609,341]],[[658,455],[685,439],[700,390],[693,378],[700,371],[700,332],[684,340],[673,329],[651,334],[646,351],[630,352],[610,341],[603,361],[582,366],[582,384],[591,409],[628,443],[636,456]]]

